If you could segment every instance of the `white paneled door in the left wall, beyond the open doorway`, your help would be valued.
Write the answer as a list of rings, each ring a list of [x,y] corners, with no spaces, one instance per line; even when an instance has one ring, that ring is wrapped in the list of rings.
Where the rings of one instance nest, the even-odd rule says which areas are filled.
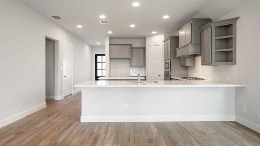
[[[63,47],[63,92],[64,97],[72,94],[72,51],[73,44],[64,43]]]

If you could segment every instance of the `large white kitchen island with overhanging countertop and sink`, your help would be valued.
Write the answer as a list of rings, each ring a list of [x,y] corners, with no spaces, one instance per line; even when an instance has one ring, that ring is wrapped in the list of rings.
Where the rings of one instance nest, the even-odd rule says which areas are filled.
[[[234,121],[235,90],[216,81],[87,81],[81,122]]]

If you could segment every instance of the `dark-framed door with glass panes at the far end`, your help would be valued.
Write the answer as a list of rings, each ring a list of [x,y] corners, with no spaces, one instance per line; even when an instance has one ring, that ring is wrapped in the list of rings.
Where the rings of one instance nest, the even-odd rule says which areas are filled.
[[[106,56],[104,54],[95,55],[95,80],[97,81],[99,77],[106,75]]]

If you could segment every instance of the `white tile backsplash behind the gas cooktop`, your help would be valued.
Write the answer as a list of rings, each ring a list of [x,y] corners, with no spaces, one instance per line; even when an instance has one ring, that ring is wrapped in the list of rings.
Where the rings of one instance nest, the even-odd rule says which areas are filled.
[[[201,66],[201,56],[195,57],[195,67],[189,67],[189,76],[236,83],[236,65]]]

